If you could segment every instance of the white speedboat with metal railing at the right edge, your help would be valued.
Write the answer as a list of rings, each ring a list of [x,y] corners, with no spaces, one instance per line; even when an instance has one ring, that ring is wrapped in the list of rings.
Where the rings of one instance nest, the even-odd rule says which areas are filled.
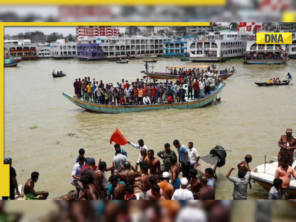
[[[271,150],[265,153],[264,163],[251,171],[251,179],[257,182],[264,189],[269,190],[273,186],[274,175],[278,168],[277,153],[279,149]],[[272,155],[273,154],[273,155]],[[294,153],[294,162],[292,167],[296,167],[296,153]],[[296,180],[292,176],[290,181],[290,197],[296,197]]]

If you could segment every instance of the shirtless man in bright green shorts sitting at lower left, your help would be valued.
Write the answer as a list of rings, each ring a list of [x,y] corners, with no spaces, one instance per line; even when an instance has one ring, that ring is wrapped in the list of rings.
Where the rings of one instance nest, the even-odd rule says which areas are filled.
[[[46,200],[48,197],[47,191],[36,192],[34,190],[35,183],[38,181],[39,173],[31,173],[31,178],[28,179],[24,186],[25,200]]]

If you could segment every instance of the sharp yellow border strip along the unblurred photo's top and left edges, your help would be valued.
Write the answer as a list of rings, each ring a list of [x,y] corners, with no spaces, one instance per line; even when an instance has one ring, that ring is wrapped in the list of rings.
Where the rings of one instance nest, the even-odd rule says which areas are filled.
[[[76,1],[73,2],[73,4]],[[90,2],[90,1],[87,1]],[[92,1],[91,1],[92,2]],[[130,1],[128,1],[131,3]],[[190,1],[189,1],[190,2]],[[205,2],[205,1],[204,1]],[[220,0],[215,0],[213,1],[215,4],[217,2],[223,2]],[[15,4],[22,4],[23,2],[16,1],[14,2]],[[26,2],[26,4],[32,3],[31,1]],[[45,3],[45,2],[43,2]],[[57,1],[52,1],[52,4],[59,3]],[[63,2],[62,2],[63,3]],[[81,3],[81,2],[80,2]],[[94,3],[94,2],[93,2]],[[122,2],[120,2],[122,3]],[[157,2],[159,3],[159,2]],[[171,2],[170,4],[174,4],[176,2]],[[192,1],[193,3],[193,1]],[[201,2],[199,2],[200,4]],[[9,3],[11,4],[11,3]],[[36,3],[35,3],[36,4]],[[48,4],[48,3],[47,3]],[[86,4],[86,2],[83,2],[83,4]],[[144,3],[143,3],[144,4]],[[184,4],[184,2],[182,2]],[[196,5],[196,1],[194,1],[194,4]],[[6,26],[84,26],[84,25],[93,25],[93,26],[130,26],[130,25],[135,25],[135,26],[209,26],[210,22],[0,22],[0,36],[4,38],[4,27]],[[4,42],[0,41],[0,48],[4,49]],[[0,57],[4,57],[4,50],[0,50]],[[4,60],[0,60],[1,62]],[[3,72],[2,72],[2,83],[4,83],[4,62],[1,63],[3,67]],[[1,104],[0,104],[0,112],[1,112],[1,137],[0,140],[2,142],[2,146],[0,149],[0,172],[1,172],[1,182],[0,182],[0,196],[9,196],[9,165],[4,165],[3,164],[3,159],[4,159],[4,85],[1,89],[1,94],[3,95],[1,97]]]

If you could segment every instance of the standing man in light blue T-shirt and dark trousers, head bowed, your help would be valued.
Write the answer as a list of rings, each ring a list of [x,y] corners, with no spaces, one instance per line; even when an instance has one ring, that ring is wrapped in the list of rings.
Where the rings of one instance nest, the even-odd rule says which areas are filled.
[[[190,180],[190,158],[188,157],[188,150],[185,147],[185,145],[180,144],[180,142],[177,139],[173,141],[173,144],[177,148],[177,151],[179,153],[179,162],[181,163],[182,167],[182,175],[183,177],[186,177],[188,180]]]

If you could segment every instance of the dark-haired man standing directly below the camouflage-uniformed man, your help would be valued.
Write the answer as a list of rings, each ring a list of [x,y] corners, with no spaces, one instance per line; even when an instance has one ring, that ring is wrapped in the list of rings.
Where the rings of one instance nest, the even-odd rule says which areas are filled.
[[[290,195],[290,179],[291,175],[296,178],[296,172],[294,168],[288,165],[289,160],[286,157],[282,157],[281,166],[276,169],[274,178],[280,178],[283,183],[281,186],[281,200],[289,200]]]

